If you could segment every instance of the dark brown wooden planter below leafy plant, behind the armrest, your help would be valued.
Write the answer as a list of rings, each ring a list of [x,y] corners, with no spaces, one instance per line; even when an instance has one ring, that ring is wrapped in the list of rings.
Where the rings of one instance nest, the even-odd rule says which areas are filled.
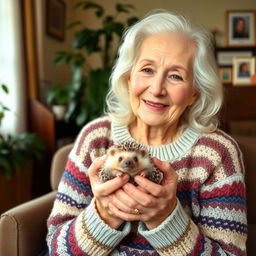
[[[0,173],[0,214],[32,199],[32,163],[7,179]]]

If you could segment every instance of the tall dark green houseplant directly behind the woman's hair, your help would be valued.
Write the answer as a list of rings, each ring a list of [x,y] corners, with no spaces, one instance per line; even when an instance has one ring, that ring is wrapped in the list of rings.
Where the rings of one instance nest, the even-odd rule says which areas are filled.
[[[67,85],[69,97],[65,119],[80,127],[103,113],[108,80],[116,58],[114,42],[120,41],[124,28],[138,19],[129,16],[125,22],[120,21],[121,14],[127,16],[133,9],[129,4],[117,3],[114,15],[107,14],[100,4],[91,1],[81,1],[76,8],[94,10],[101,24],[95,29],[87,28],[81,21],[69,24],[68,29],[74,30],[72,50],[58,51],[54,61],[57,65],[70,65],[72,80]],[[90,67],[88,55],[100,56],[99,68]]]

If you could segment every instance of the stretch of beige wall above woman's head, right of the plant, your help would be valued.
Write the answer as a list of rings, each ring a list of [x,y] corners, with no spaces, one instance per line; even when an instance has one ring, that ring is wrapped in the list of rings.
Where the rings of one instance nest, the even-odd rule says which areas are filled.
[[[192,22],[211,30],[217,28],[221,36],[219,45],[225,44],[226,10],[256,9],[255,0],[98,0],[107,10],[113,11],[117,2],[133,4],[134,15],[142,17],[153,9],[166,9],[188,17]],[[90,19],[88,23],[91,25]]]

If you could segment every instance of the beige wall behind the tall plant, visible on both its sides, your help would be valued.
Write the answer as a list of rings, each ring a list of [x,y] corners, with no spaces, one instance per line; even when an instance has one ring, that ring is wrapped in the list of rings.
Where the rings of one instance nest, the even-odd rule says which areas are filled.
[[[67,23],[74,20],[83,20],[84,24],[97,26],[98,21],[91,12],[74,9],[75,3],[80,0],[66,0]],[[71,31],[66,32],[65,42],[50,38],[45,33],[45,0],[37,0],[37,27],[38,27],[38,54],[40,67],[40,84],[42,91],[51,83],[66,83],[70,79],[70,71],[65,66],[54,66],[55,52],[69,49]],[[226,10],[251,10],[256,9],[255,0],[96,0],[101,3],[107,12],[113,13],[117,2],[133,4],[133,15],[142,17],[152,9],[167,9],[183,14],[204,28],[218,29],[220,36],[217,38],[219,46],[225,45],[225,11]],[[124,16],[125,17],[125,16]],[[95,60],[91,60],[95,65]],[[99,62],[97,59],[96,62]],[[44,94],[44,93],[42,93]]]

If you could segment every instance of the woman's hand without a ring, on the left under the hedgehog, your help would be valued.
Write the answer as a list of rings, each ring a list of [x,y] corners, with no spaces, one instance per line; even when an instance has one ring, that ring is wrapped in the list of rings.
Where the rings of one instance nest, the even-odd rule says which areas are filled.
[[[92,192],[96,200],[96,209],[101,219],[113,229],[118,229],[123,220],[114,216],[109,203],[112,193],[121,189],[129,181],[129,175],[123,174],[105,183],[99,178],[100,168],[103,166],[106,157],[96,158],[88,169]]]

